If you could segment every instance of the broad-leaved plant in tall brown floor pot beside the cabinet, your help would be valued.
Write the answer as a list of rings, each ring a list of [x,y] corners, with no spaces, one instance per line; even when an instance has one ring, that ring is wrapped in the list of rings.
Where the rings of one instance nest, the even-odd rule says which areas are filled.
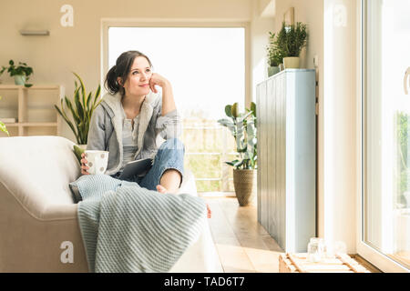
[[[240,206],[247,206],[256,196],[256,105],[246,113],[238,113],[238,103],[225,106],[225,114],[229,117],[218,120],[222,126],[228,127],[236,141],[237,159],[226,162],[233,166],[233,186]]]

